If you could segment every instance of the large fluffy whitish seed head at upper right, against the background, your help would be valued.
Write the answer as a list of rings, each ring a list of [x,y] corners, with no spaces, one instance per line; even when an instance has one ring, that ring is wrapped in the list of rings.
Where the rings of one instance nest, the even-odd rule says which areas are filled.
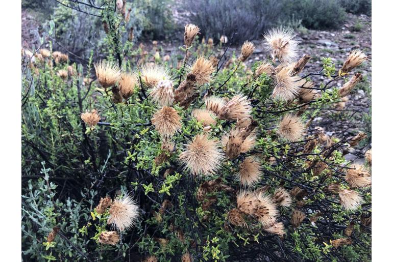
[[[287,27],[274,28],[264,36],[264,44],[271,52],[273,60],[278,58],[282,63],[291,63],[298,54],[298,41],[293,30]]]

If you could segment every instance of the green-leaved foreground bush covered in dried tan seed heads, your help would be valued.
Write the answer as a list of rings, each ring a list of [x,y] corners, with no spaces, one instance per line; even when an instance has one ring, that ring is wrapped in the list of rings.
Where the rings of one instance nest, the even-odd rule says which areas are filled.
[[[367,56],[354,50],[338,72],[329,59],[307,72],[312,54],[300,55],[289,28],[266,33],[269,58],[253,64],[256,42],[230,57],[225,41],[214,56],[199,34],[185,26],[175,63],[157,59],[158,48],[149,60],[143,46],[138,59],[94,63],[95,93],[80,118],[95,197],[78,238],[109,260],[367,259],[371,150],[364,164],[342,153],[366,136],[333,137],[313,121],[351,99]],[[62,75],[62,84],[77,77]],[[107,148],[103,161],[93,157]]]

